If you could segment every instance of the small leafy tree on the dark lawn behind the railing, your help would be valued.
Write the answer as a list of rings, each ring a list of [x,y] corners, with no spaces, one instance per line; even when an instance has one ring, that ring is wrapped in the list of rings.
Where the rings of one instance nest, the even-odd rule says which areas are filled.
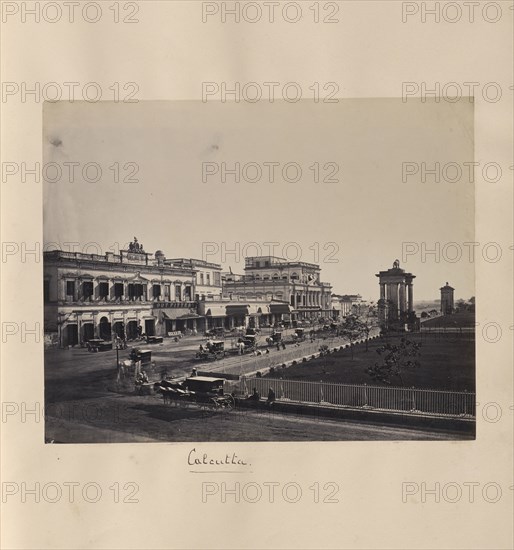
[[[366,373],[384,384],[392,384],[395,379],[404,386],[404,373],[419,367],[419,350],[421,343],[402,338],[398,344],[387,343],[377,349],[380,362],[368,367]]]

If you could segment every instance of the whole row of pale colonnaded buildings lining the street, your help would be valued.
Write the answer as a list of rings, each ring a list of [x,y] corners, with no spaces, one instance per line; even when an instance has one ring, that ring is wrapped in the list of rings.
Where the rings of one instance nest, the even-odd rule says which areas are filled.
[[[245,259],[244,275],[189,258],[145,252],[134,239],[105,255],[44,253],[45,343],[133,340],[214,327],[329,320],[363,307],[359,295],[332,294],[319,265],[273,256]]]

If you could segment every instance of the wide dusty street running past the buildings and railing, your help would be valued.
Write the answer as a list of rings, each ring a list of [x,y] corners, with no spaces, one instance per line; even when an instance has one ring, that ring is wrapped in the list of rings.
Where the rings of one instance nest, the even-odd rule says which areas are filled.
[[[263,339],[263,338],[262,338]],[[250,372],[270,361],[281,363],[300,357],[313,346],[306,342],[286,350],[270,349],[261,357],[229,356],[222,361],[197,363],[195,353],[204,337],[144,345],[156,362],[154,379],[166,369],[168,376],[183,377],[199,370]],[[327,342],[328,343],[328,342]],[[340,344],[330,342],[333,345]],[[227,343],[227,347],[230,344]],[[120,360],[130,348],[120,350]],[[262,367],[261,367],[262,368]],[[87,349],[45,352],[46,439],[56,443],[135,441],[302,441],[453,439],[437,431],[384,427],[353,421],[313,418],[254,410],[213,411],[198,405],[164,405],[159,395],[117,391],[116,351],[89,353]]]

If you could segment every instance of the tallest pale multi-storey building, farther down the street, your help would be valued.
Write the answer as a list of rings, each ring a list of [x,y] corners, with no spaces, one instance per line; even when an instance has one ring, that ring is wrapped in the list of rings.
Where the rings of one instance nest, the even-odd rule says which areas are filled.
[[[289,307],[290,320],[332,317],[332,287],[320,281],[316,264],[290,262],[275,256],[245,259],[244,275],[223,274],[223,296],[230,300],[266,300]]]

